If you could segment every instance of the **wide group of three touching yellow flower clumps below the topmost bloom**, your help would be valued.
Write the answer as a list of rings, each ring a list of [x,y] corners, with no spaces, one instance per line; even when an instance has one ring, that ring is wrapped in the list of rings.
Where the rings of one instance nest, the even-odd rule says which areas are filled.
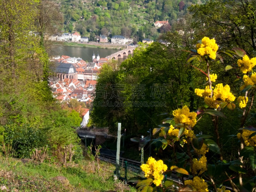
[[[229,85],[225,85],[223,87],[223,84],[221,83],[217,84],[215,88],[212,87],[212,89],[212,98],[209,97],[211,95],[211,90],[208,86],[206,86],[205,89],[195,89],[196,95],[204,97],[204,102],[211,108],[218,108],[219,104],[215,102],[217,99],[224,100],[226,102],[231,102],[236,99],[236,97],[230,92]]]

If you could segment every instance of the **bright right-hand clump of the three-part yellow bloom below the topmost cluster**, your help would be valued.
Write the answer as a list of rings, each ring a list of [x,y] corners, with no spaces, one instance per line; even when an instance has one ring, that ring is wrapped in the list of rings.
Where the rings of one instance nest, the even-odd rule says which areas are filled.
[[[229,85],[225,85],[223,87],[223,84],[217,84],[213,90],[213,96],[212,98],[214,100],[221,99],[227,102],[234,101],[236,97],[230,92]]]

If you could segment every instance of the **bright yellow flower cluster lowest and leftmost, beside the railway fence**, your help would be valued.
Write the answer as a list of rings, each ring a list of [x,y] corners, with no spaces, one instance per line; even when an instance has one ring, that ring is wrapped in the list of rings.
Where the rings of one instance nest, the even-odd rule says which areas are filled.
[[[146,178],[154,178],[153,183],[159,186],[164,179],[163,172],[167,170],[167,165],[162,160],[156,161],[153,157],[149,157],[147,163],[142,164],[140,168]]]

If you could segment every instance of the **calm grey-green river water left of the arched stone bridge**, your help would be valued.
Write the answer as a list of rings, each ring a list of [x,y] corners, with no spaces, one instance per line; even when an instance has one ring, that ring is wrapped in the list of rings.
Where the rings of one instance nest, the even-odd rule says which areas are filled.
[[[106,48],[94,48],[94,47],[78,47],[78,46],[65,46],[65,45],[53,45],[49,56],[61,56],[67,55],[69,57],[80,57],[86,62],[92,62],[92,54],[94,52],[95,58],[99,53],[100,58],[105,58],[119,49],[106,49]]]

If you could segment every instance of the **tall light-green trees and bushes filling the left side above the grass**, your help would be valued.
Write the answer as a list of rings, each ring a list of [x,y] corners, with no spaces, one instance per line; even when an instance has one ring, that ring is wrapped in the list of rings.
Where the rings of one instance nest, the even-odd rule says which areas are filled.
[[[0,154],[39,160],[32,156],[40,151],[42,161],[51,154],[57,164],[69,164],[82,157],[73,129],[82,118],[62,110],[48,86],[44,35],[56,22],[49,22],[52,12],[45,14],[44,3],[0,1]]]

